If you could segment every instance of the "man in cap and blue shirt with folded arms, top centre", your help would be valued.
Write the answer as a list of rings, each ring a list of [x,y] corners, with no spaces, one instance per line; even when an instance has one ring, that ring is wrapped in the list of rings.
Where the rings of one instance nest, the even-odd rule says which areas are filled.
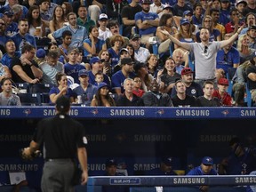
[[[146,44],[149,48],[148,39],[151,36],[155,36],[156,27],[159,26],[159,18],[156,12],[149,12],[151,0],[142,0],[142,11],[135,14],[136,26],[140,29],[139,34],[141,36],[141,43]]]

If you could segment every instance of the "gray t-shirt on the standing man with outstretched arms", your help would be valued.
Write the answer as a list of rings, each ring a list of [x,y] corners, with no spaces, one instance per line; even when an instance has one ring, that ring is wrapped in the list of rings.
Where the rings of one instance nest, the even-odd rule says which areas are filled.
[[[196,79],[209,80],[215,78],[216,57],[220,50],[220,42],[209,42],[206,50],[202,43],[191,43],[190,51],[195,55]]]

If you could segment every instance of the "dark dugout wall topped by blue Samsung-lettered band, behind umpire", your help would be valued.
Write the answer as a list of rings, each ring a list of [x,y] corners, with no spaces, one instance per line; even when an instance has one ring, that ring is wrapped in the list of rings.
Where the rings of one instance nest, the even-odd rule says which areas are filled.
[[[0,183],[10,185],[9,172],[21,171],[26,173],[31,188],[39,188],[44,158],[23,161],[20,148],[28,146],[37,122],[46,116],[53,116],[54,111],[52,108],[12,110],[13,108],[2,108],[0,118]],[[71,114],[84,124],[87,133],[88,168],[91,176],[105,174],[105,162],[108,158],[115,158],[118,168],[126,170],[128,175],[147,174],[159,167],[163,156],[172,157],[173,169],[179,174],[188,172],[191,165],[199,165],[203,156],[212,156],[214,167],[218,168],[220,161],[228,156],[228,142],[234,136],[238,136],[244,146],[255,148],[254,109],[102,110],[103,112],[101,108],[73,108]],[[91,114],[89,117],[83,115],[87,112]],[[15,117],[17,113],[21,114],[20,118]],[[10,117],[12,114],[15,115],[13,118]],[[103,118],[104,114],[108,118]],[[245,117],[241,118],[242,114]],[[222,118],[219,119],[218,116]]]

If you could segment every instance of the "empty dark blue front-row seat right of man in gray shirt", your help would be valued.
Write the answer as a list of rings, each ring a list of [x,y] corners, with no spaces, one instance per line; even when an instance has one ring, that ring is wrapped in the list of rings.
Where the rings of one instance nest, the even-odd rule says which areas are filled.
[[[18,93],[20,97],[20,102],[22,106],[39,106],[41,105],[41,95],[40,93]]]

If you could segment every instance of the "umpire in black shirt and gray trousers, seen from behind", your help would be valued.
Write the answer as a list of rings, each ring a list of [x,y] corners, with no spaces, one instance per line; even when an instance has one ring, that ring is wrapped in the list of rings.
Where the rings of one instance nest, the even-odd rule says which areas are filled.
[[[37,124],[33,140],[28,148],[24,148],[22,155],[28,159],[32,158],[36,150],[44,145],[42,191],[69,192],[73,191],[73,186],[77,184],[74,183],[78,169],[76,155],[82,169],[81,184],[87,182],[87,139],[83,125],[68,116],[70,103],[67,97],[60,97],[55,108],[56,116],[45,118]]]

